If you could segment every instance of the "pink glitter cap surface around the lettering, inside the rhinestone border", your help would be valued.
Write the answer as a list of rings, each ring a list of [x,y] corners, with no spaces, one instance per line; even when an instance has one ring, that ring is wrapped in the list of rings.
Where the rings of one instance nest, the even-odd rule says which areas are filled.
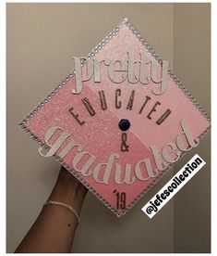
[[[105,58],[126,59],[127,52],[134,54],[136,59],[139,59],[139,53],[142,52],[145,52],[148,59],[153,58],[127,26],[122,26],[115,37],[94,58],[99,60]],[[169,74],[167,90],[163,95],[156,96],[151,93],[151,90],[156,86],[156,83],[152,82],[143,85],[141,83],[128,83],[127,80],[124,83],[113,83],[108,78],[107,67],[102,65],[102,83],[94,83],[93,78],[91,78],[90,81],[83,83],[83,90],[80,94],[73,95],[71,89],[75,88],[75,77],[69,79],[25,125],[42,142],[44,142],[44,134],[50,127],[61,127],[67,134],[71,135],[68,141],[73,138],[76,143],[83,147],[83,150],[87,150],[96,157],[96,163],[104,163],[110,154],[116,153],[119,155],[119,159],[115,160],[115,163],[121,165],[123,172],[126,164],[129,163],[133,174],[137,162],[144,159],[150,159],[151,167],[155,169],[155,161],[149,147],[156,146],[162,150],[165,144],[175,142],[177,134],[182,132],[181,120],[187,121],[194,138],[199,137],[210,126],[210,122],[181,91]],[[115,90],[117,88],[121,89],[119,99],[122,101],[122,107],[120,109],[115,109]],[[101,109],[98,93],[101,90],[106,96],[108,107],[106,110]],[[135,99],[133,108],[129,110],[127,109],[127,102],[132,90],[135,90]],[[139,114],[139,109],[146,96],[151,96],[151,100]],[[96,114],[92,117],[81,101],[84,97],[88,97],[91,106],[95,109]],[[161,106],[151,114],[150,120],[147,115],[156,101],[160,101]],[[85,121],[83,125],[79,125],[70,114],[68,109],[72,107],[78,113],[79,119]],[[171,115],[161,125],[156,124],[166,109],[172,110]],[[120,150],[122,132],[118,128],[118,122],[121,119],[128,119],[131,123],[127,131],[127,144],[129,145],[127,152]],[[76,150],[71,150],[63,160],[71,169],[73,169],[72,160],[76,153]],[[158,173],[158,175],[160,174],[161,172]],[[96,182],[92,176],[82,176],[81,173],[78,175],[93,187],[99,197],[108,202],[109,207],[113,207],[117,213],[125,212],[127,207],[131,206],[140,193],[156,178],[150,178],[146,181],[136,180],[131,185],[116,184],[115,164],[108,185]],[[114,190],[127,194],[125,210],[117,209]]]

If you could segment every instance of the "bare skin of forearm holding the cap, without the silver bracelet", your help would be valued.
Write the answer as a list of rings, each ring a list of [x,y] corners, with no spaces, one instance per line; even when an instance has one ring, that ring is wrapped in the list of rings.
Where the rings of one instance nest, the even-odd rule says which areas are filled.
[[[48,200],[64,202],[79,215],[86,194],[87,189],[62,167]],[[46,205],[15,252],[71,252],[77,227],[73,212],[62,206]]]

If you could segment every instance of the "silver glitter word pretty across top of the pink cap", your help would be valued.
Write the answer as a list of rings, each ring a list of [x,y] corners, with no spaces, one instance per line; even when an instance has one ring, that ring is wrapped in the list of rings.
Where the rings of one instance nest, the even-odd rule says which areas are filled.
[[[139,60],[132,53],[127,52],[127,59],[96,59],[96,58],[74,58],[76,73],[76,88],[71,92],[80,94],[83,82],[89,81],[94,76],[94,83],[102,81],[102,63],[107,66],[109,79],[114,83],[123,83],[126,80],[129,83],[148,84],[151,81],[159,84],[159,88],[152,89],[154,95],[162,95],[167,87],[168,61],[163,60],[160,65],[154,58],[148,60],[145,53],[139,54]],[[81,67],[81,63],[86,62],[86,71]]]

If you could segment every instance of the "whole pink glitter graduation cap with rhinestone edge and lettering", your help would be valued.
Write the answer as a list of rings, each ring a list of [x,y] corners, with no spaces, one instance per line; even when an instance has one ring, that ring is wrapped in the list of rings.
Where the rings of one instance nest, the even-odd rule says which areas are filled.
[[[199,103],[128,19],[20,126],[117,216],[210,129]]]

